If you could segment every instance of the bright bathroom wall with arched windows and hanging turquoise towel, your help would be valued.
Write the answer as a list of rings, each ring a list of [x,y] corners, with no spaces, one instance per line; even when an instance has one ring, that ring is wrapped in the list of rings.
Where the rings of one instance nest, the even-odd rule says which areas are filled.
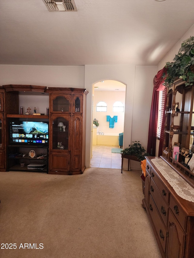
[[[107,104],[106,112],[96,112],[96,105],[99,101],[104,101]],[[121,101],[125,106],[125,91],[94,91],[93,102],[93,119],[97,119],[99,126],[97,133],[104,132],[108,135],[118,135],[124,130],[124,112],[113,112],[113,104],[116,101]],[[114,124],[114,128],[109,128],[109,122],[106,121],[106,116],[117,116],[117,122]]]

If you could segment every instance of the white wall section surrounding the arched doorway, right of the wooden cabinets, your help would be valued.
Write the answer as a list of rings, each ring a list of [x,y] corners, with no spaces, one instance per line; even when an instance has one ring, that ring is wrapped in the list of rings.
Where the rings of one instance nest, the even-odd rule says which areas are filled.
[[[153,78],[156,67],[135,67],[135,65],[85,65],[85,88],[87,95],[86,149],[91,149],[92,131],[92,85],[101,80],[118,80],[126,85],[125,124],[123,148],[131,141],[140,140],[146,148],[148,141],[149,115],[153,92]],[[134,122],[134,123],[133,123]],[[90,126],[89,126],[90,125]],[[89,155],[86,165],[90,163]],[[127,161],[124,160],[124,169]],[[140,168],[139,162],[132,162],[131,168]]]

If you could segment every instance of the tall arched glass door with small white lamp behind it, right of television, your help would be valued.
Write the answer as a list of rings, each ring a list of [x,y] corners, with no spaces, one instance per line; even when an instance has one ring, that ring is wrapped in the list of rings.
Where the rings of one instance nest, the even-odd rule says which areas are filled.
[[[70,149],[70,117],[52,116],[52,149],[69,150]]]

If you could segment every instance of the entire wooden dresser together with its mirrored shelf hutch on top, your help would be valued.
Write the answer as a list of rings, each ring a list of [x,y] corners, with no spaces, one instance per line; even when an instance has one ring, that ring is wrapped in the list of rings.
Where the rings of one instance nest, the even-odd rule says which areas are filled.
[[[163,258],[194,257],[194,170],[173,158],[173,146],[194,144],[194,86],[167,86],[163,154],[146,157],[146,208]],[[177,107],[177,109],[176,109]],[[193,154],[194,155],[194,154]]]

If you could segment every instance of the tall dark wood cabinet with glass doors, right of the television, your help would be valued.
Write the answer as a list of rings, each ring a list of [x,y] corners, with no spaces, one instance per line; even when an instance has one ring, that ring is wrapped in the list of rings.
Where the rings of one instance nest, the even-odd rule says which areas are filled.
[[[75,175],[85,170],[87,90],[49,88],[49,174]]]

